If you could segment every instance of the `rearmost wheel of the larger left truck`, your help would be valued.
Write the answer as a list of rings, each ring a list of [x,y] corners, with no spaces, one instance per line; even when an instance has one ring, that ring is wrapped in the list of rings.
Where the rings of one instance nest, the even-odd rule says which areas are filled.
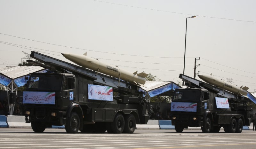
[[[136,119],[133,114],[125,116],[124,133],[133,133],[136,127]]]

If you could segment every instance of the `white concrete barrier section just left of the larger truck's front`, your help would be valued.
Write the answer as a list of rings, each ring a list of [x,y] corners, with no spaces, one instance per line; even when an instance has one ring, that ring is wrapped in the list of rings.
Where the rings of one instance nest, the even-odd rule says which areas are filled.
[[[7,115],[9,128],[31,128],[31,123],[26,123],[25,116]]]

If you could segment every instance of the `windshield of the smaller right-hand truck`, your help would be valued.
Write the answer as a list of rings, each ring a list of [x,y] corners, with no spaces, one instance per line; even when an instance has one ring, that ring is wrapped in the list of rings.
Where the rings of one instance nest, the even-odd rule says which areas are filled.
[[[199,90],[179,90],[174,92],[174,102],[199,102],[201,91]]]

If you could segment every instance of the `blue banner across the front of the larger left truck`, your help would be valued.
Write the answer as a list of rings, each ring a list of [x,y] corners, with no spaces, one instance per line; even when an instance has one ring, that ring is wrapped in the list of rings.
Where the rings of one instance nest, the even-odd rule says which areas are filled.
[[[24,91],[23,104],[55,104],[55,92]]]

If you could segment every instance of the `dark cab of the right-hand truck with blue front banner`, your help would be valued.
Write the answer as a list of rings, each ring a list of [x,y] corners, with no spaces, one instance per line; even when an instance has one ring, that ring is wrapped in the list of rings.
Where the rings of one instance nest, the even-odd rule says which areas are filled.
[[[171,103],[172,124],[177,131],[188,127],[201,127],[201,119],[209,108],[211,102],[208,90],[176,89]]]

